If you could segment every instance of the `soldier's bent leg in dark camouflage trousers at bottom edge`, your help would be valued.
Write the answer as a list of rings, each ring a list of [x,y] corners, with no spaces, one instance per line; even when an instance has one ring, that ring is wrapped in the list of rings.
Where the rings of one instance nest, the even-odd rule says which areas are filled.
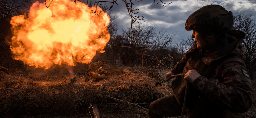
[[[167,95],[150,103],[148,118],[180,116],[182,106],[173,95]]]

